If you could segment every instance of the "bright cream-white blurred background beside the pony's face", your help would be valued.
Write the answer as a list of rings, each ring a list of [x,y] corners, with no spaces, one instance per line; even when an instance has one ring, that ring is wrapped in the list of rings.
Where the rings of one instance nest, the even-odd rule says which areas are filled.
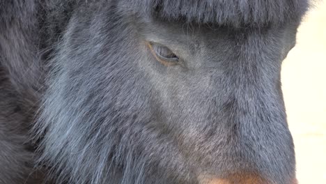
[[[326,184],[326,0],[313,2],[281,77],[299,184]]]

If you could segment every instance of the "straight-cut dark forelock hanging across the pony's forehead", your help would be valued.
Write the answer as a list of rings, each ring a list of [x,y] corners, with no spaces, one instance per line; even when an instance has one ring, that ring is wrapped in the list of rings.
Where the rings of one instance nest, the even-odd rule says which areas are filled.
[[[167,21],[222,25],[282,24],[300,20],[308,0],[125,0],[134,12]]]

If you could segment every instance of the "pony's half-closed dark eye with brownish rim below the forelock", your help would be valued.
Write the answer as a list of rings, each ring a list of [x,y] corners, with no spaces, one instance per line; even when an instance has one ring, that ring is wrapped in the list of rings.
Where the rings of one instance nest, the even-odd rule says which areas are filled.
[[[179,58],[168,47],[157,43],[148,43],[150,52],[155,56],[157,61],[160,61],[166,66],[178,64]]]

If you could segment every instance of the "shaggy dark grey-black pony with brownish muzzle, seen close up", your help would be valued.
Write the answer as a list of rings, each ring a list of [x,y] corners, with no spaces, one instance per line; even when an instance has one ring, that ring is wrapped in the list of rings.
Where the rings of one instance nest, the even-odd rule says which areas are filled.
[[[296,183],[306,0],[0,2],[0,183]]]

